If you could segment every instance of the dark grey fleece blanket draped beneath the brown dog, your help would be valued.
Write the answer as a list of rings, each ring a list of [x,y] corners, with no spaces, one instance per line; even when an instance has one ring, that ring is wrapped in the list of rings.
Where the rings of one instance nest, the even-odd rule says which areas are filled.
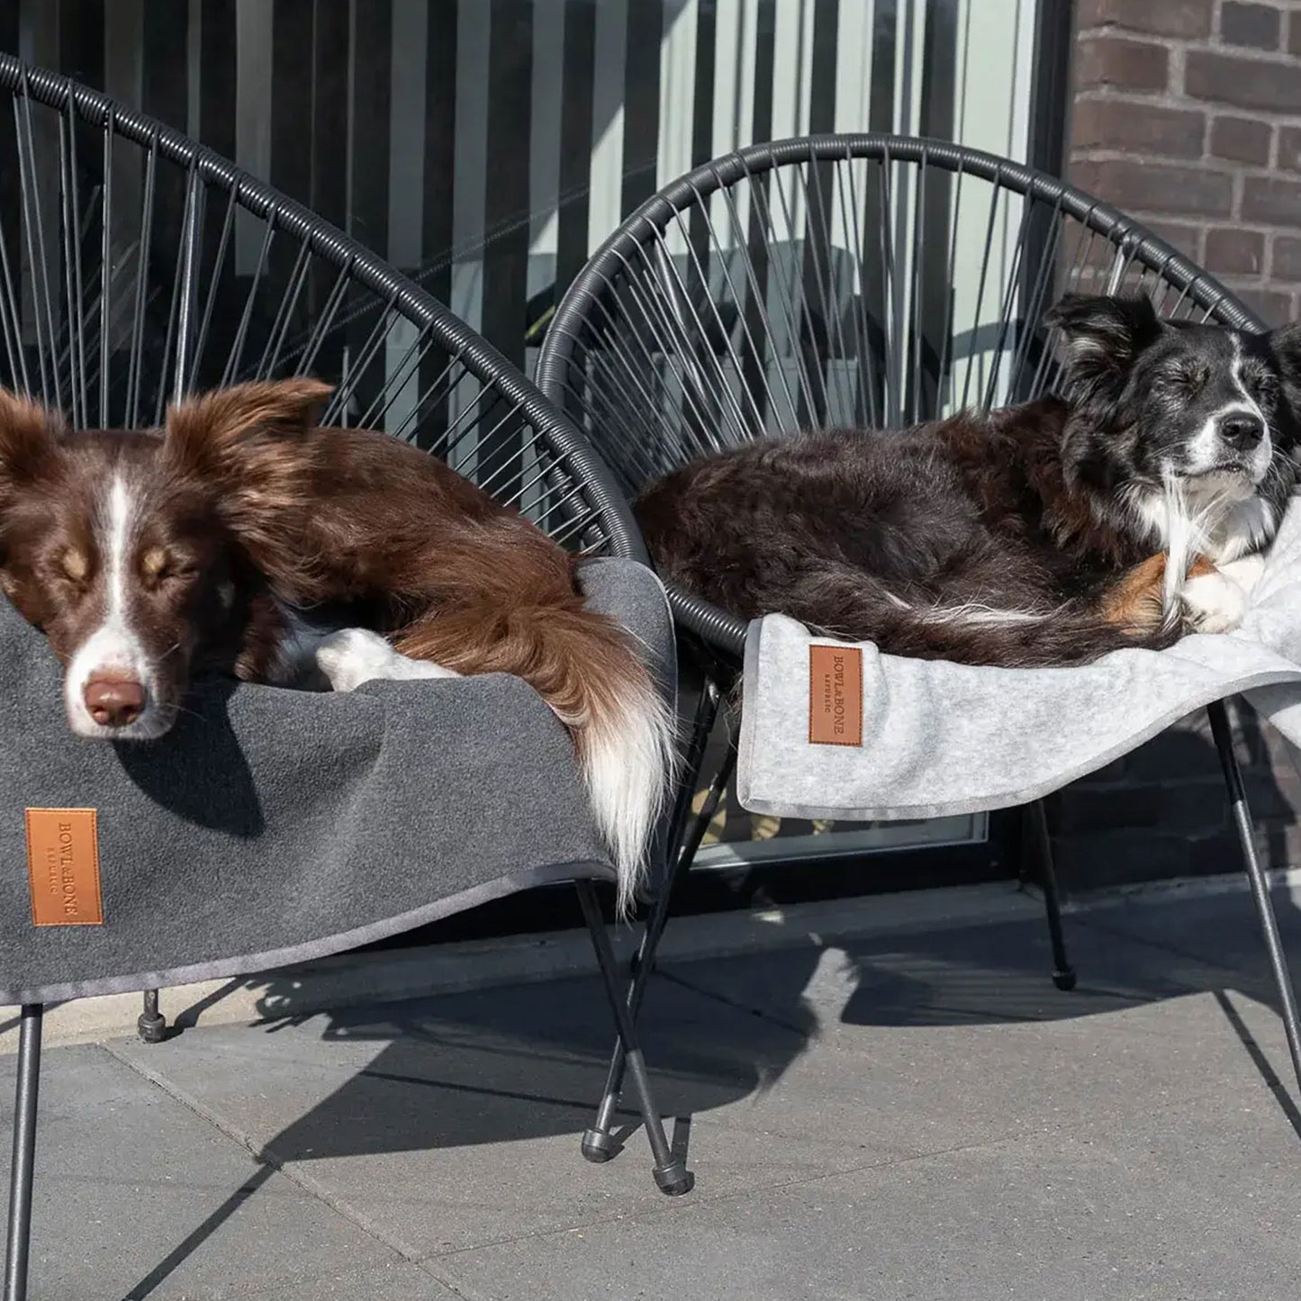
[[[671,691],[658,580],[596,561],[583,584]],[[0,601],[0,1004],[265,971],[528,886],[614,879],[569,736],[518,678],[206,683],[170,735],[118,747],[69,731],[60,683]],[[98,811],[103,925],[33,924],[29,808]]]

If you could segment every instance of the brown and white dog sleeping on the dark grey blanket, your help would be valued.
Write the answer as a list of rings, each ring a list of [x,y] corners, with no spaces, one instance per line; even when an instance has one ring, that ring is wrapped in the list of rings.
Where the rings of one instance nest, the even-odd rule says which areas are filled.
[[[673,753],[631,637],[584,608],[575,557],[441,461],[316,428],[329,393],[245,384],[161,433],[73,433],[0,390],[0,591],[65,664],[69,723],[161,736],[200,670],[513,673],[574,738],[627,908]]]

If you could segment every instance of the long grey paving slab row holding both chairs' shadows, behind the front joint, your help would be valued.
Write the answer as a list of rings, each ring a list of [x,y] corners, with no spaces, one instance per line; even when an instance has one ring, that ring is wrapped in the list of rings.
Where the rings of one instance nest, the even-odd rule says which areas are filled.
[[[1079,951],[1115,987],[1062,994],[1033,955],[1011,977],[995,971],[989,955],[1033,946],[987,929],[852,959],[800,948],[677,964],[657,978],[645,1042],[665,1111],[690,1119],[692,1200],[1071,1132],[1099,1110],[1141,1125],[1190,1098],[1275,1106],[1213,995],[1187,993],[1206,984],[1200,964],[1200,980],[1167,981],[1163,952],[1146,971],[1151,955],[1121,952],[1144,946],[1084,935]],[[1142,980],[1121,978],[1127,964]],[[900,989],[907,1016],[890,997]],[[1071,1015],[1081,1002],[1106,1011]],[[604,1011],[595,981],[565,981],[113,1051],[425,1258],[669,1209],[643,1134],[610,1166],[576,1158],[604,1081]]]

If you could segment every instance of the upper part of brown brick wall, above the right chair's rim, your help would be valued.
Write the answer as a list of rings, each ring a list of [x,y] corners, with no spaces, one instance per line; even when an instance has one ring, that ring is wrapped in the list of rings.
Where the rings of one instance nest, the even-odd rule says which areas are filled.
[[[1301,316],[1301,0],[1077,0],[1069,174]]]

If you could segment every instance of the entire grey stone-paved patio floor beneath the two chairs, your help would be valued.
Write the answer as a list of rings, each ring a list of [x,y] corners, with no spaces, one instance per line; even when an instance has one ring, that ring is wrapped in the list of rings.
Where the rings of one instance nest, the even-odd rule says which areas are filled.
[[[610,1037],[595,981],[113,1043],[134,1071],[56,1050],[34,1297],[1291,1296],[1278,1017],[1201,956],[1232,935],[1172,951],[1119,911],[1068,917],[1073,994],[1030,922],[671,964],[644,1034],[690,1118],[683,1200],[640,1133],[578,1155]],[[1206,945],[1211,913],[1183,915]],[[241,1142],[289,1177],[255,1187]],[[75,1253],[49,1228],[70,1218]]]

